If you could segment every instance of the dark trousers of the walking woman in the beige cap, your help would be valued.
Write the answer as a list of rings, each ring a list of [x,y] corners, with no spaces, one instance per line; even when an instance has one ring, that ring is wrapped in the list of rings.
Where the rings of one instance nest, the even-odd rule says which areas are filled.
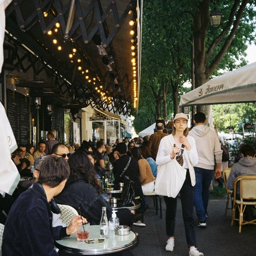
[[[197,246],[196,224],[194,220],[194,187],[191,185],[189,171],[187,170],[185,182],[180,190],[183,222],[185,227],[187,246]],[[177,197],[164,197],[166,204],[165,225],[168,237],[174,236]]]

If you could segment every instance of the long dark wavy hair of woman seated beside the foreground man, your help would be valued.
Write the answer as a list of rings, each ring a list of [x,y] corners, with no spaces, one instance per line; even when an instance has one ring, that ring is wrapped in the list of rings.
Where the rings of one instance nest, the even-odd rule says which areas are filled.
[[[98,193],[100,193],[101,186],[98,182],[96,172],[93,164],[85,152],[76,151],[70,156],[68,162],[71,169],[70,178],[75,181],[84,180],[93,185]]]

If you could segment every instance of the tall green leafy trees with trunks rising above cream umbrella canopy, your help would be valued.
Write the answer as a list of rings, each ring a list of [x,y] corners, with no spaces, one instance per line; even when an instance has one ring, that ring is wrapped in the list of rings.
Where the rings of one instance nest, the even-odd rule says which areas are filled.
[[[218,29],[209,26],[209,14],[214,8],[210,0],[143,2],[141,87],[139,109],[134,120],[136,131],[154,123],[153,116],[166,120],[178,112],[179,95],[185,90],[183,84],[192,77],[192,35],[196,87],[213,75],[245,65],[246,43],[252,42],[255,36],[256,1],[215,2],[223,13]],[[145,95],[147,100],[142,99]],[[153,113],[149,113],[151,111]],[[152,123],[149,124],[148,120]],[[137,128],[138,123],[143,129]]]

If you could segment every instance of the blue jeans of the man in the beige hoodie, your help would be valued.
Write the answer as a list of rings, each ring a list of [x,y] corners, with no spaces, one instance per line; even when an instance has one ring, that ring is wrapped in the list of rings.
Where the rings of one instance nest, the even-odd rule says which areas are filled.
[[[211,180],[214,178],[214,170],[194,167],[196,174],[195,207],[199,221],[206,220],[206,212],[209,201],[209,188]]]

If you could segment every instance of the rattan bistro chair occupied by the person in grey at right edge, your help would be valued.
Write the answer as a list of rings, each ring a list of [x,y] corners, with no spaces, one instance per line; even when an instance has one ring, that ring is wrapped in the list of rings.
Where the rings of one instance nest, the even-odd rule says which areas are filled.
[[[237,183],[240,182],[240,199],[237,198]],[[232,220],[239,221],[239,233],[241,233],[242,225],[256,224],[256,217],[253,220],[243,220],[244,210],[247,205],[253,205],[256,209],[256,175],[239,176],[234,180],[233,190],[233,207],[232,207]],[[239,209],[239,219],[236,218],[236,208]]]

